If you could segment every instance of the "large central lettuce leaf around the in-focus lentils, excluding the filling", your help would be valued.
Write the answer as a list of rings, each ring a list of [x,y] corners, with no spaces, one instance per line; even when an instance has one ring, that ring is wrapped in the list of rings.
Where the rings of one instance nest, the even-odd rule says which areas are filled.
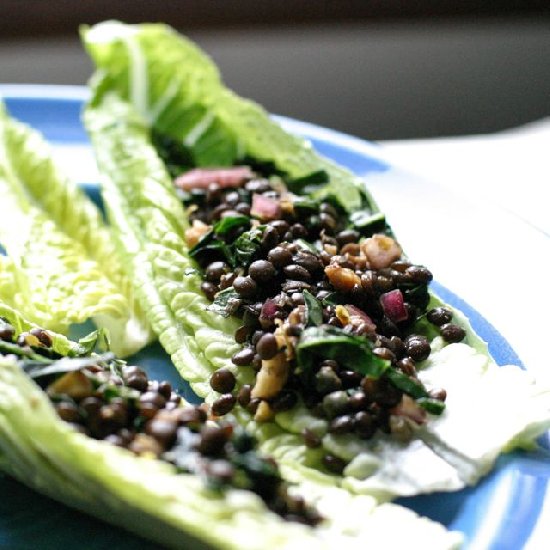
[[[85,123],[119,253],[179,372],[198,395],[215,402],[219,394],[209,382],[214,372],[231,371],[241,387],[255,374],[232,362],[240,323],[212,311],[201,292],[201,274],[185,240],[188,217],[168,173],[171,162],[167,166],[161,156],[171,161],[174,155],[166,151],[175,150],[179,164],[188,167],[267,167],[307,199],[336,197],[354,225],[367,231],[379,230],[383,216],[353,174],[227,90],[212,62],[167,27],[107,22],[85,29],[83,40],[98,68]],[[440,305],[431,295],[429,307]],[[472,485],[500,452],[531,446],[548,428],[550,388],[518,367],[497,367],[460,312],[453,320],[465,333],[463,341],[448,344],[426,329],[432,353],[418,371],[425,386],[446,389],[445,410],[413,424],[406,441],[384,433],[368,440],[327,433],[327,423],[301,405],[270,422],[234,414],[293,481],[339,485],[379,500]],[[369,368],[376,364],[372,360]],[[518,403],[513,411],[511,400]],[[304,428],[321,437],[321,447],[305,445]],[[327,453],[345,461],[341,474],[323,464]]]

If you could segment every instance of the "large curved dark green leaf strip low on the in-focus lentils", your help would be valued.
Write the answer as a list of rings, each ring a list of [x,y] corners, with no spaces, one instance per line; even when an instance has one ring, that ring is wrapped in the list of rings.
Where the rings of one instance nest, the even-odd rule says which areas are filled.
[[[372,353],[372,344],[365,338],[345,333],[326,325],[304,330],[297,346],[298,364],[310,370],[320,359],[334,359],[341,366],[378,378],[389,361]]]

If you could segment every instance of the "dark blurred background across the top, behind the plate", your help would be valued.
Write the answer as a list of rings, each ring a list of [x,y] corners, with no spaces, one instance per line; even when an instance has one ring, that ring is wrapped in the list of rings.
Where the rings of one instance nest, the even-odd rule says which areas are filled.
[[[78,26],[163,21],[271,112],[372,140],[550,116],[550,2],[2,0],[0,81],[84,84]]]

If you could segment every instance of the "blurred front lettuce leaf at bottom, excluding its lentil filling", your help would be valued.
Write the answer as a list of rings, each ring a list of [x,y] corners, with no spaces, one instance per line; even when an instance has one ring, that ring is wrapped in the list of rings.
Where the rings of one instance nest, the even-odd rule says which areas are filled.
[[[9,357],[0,357],[0,455],[2,469],[41,493],[171,548],[359,548],[369,541],[436,550],[461,541],[405,508],[307,484],[294,491],[326,520],[314,528],[286,522],[251,492],[209,490],[199,476],[74,431]]]

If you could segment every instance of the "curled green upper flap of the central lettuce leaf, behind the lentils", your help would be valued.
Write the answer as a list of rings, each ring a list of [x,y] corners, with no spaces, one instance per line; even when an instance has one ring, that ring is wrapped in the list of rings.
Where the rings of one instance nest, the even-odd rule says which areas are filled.
[[[150,128],[184,146],[196,165],[267,162],[300,186],[299,180],[325,174],[328,184],[313,186],[314,196],[333,195],[348,210],[378,210],[359,178],[231,92],[210,58],[169,27],[107,21],[81,34],[98,68],[93,102],[116,91]]]

